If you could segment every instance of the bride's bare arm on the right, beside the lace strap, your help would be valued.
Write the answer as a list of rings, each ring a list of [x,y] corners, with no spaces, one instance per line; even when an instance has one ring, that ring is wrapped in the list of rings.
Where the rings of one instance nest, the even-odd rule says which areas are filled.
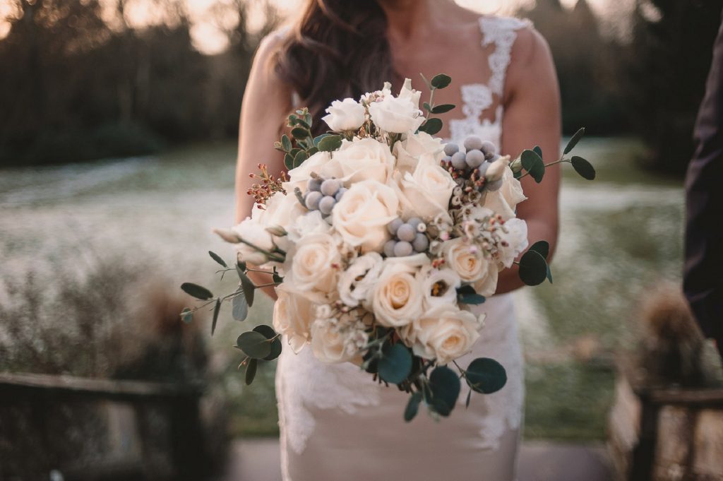
[[[502,153],[515,158],[522,150],[539,145],[545,163],[556,161],[560,157],[560,90],[547,42],[535,30],[521,30],[512,58],[505,85]],[[552,257],[557,244],[560,165],[545,169],[540,184],[531,176],[521,182],[528,199],[517,206],[517,215],[527,222],[530,244],[546,240]],[[521,286],[517,268],[505,269],[497,293]]]

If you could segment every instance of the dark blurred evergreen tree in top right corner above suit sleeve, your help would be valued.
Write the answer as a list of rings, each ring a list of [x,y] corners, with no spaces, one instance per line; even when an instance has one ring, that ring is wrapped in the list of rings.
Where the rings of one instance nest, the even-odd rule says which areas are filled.
[[[693,155],[723,0],[637,0],[621,63],[625,111],[650,149],[648,166],[682,175]]]

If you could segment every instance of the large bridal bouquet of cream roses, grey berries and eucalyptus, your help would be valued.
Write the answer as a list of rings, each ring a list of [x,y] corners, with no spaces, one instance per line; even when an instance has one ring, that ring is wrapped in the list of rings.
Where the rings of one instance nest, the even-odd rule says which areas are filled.
[[[260,164],[249,190],[251,217],[216,231],[236,244],[238,260],[229,268],[210,255],[223,273],[236,271],[239,288],[214,297],[197,284],[181,286],[213,305],[212,333],[224,301],[244,320],[255,289],[275,286],[273,328],[258,325],[237,340],[247,383],[258,362],[281,354],[285,339],[295,353],[311,349],[322,362],[354,362],[377,382],[397,385],[410,395],[406,420],[422,403],[448,416],[461,379],[469,394],[505,385],[495,360],[463,368],[455,359],[479,339],[484,314],[471,306],[495,293],[500,271],[517,264],[525,284],[552,282],[549,245],[526,250],[525,221],[515,218],[515,205],[526,199],[518,179],[540,182],[546,165],[539,148],[512,161],[479,137],[463,145],[433,137],[442,128],[433,115],[454,108],[435,105],[434,93],[450,81],[437,75],[427,82],[432,95],[424,112],[410,80],[399,95],[387,83],[359,101],[334,101],[323,118],[330,131],[318,137],[307,109],[288,117],[291,137],[275,142],[288,174],[275,178]],[[560,162],[594,178],[583,158],[552,163]],[[270,281],[254,285],[250,271],[268,273]],[[189,320],[199,308],[181,316]]]

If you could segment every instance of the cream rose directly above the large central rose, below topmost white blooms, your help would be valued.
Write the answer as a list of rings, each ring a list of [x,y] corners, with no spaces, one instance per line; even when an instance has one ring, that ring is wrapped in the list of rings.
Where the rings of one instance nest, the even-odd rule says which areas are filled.
[[[372,179],[386,184],[394,170],[395,158],[388,145],[376,139],[343,140],[333,153],[329,169],[338,171],[345,185]]]

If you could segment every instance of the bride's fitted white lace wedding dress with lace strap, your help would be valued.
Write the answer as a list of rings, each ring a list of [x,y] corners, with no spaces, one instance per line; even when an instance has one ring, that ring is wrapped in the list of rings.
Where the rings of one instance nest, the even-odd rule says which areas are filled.
[[[494,121],[480,117],[501,98],[516,32],[529,22],[482,17],[479,25],[482,46],[495,46],[492,75],[487,84],[461,87],[464,118],[449,121],[450,135],[461,144],[474,134],[499,147],[502,106]],[[440,422],[424,407],[404,422],[408,396],[373,382],[356,365],[328,365],[311,349],[284,349],[276,372],[283,481],[513,481],[524,396],[513,302],[502,294],[475,309],[487,312],[487,323],[460,365],[492,357],[507,370],[508,383],[491,395],[473,393],[467,409],[463,388],[452,415]]]

